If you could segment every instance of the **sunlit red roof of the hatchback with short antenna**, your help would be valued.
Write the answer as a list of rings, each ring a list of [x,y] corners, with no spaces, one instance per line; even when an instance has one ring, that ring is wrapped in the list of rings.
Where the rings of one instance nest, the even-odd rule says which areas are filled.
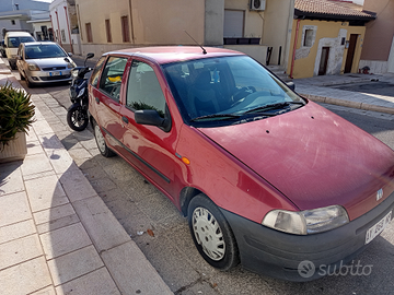
[[[207,54],[204,54],[199,46],[158,46],[121,49],[106,52],[103,56],[121,54],[127,56],[143,57],[160,64],[164,64],[201,58],[244,55],[239,51],[216,47],[205,47],[205,49]]]

